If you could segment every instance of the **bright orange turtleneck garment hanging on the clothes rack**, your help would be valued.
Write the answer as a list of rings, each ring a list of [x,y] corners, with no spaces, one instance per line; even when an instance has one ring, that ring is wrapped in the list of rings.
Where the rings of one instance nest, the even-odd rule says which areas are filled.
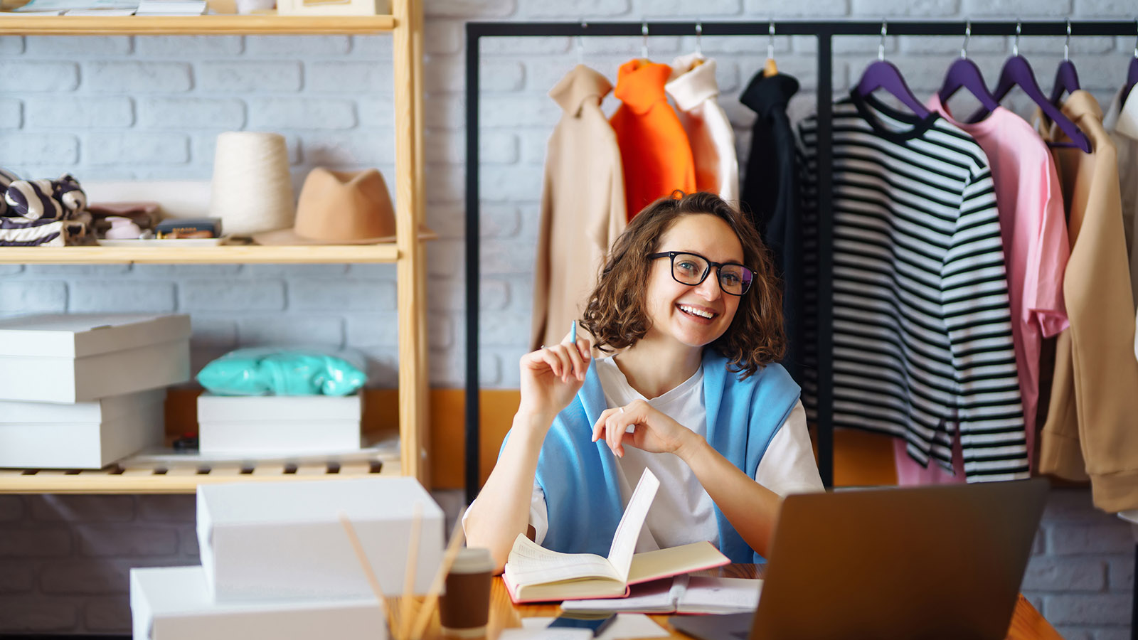
[[[620,107],[609,123],[617,133],[632,220],[652,200],[675,189],[695,191],[695,162],[687,133],[668,104],[668,65],[635,59],[620,66],[613,95]]]

